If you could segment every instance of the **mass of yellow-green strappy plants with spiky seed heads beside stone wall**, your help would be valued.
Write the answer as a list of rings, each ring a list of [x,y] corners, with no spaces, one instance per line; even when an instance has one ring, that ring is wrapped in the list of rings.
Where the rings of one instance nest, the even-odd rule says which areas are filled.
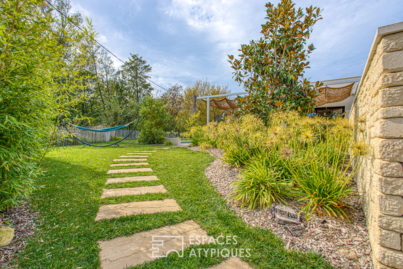
[[[228,117],[206,131],[205,137],[224,150],[225,163],[245,167],[243,178],[233,184],[233,198],[241,206],[262,208],[263,201],[281,201],[279,192],[273,192],[273,199],[267,197],[271,187],[282,182],[278,196],[305,202],[299,213],[304,211],[307,220],[313,214],[348,220],[345,200],[357,195],[352,179],[362,159],[371,154],[364,140],[365,119],[354,123],[297,111],[269,115],[266,124],[253,115]]]

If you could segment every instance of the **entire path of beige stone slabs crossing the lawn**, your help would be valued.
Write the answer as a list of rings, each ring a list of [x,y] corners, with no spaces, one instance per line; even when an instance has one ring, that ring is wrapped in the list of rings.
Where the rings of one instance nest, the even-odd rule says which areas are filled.
[[[169,148],[156,148],[169,149]],[[136,151],[137,153],[126,153],[121,158],[113,161],[146,161],[147,159],[133,159],[133,157],[146,157],[144,155],[152,154],[154,151]],[[144,153],[138,153],[144,152]],[[150,152],[150,153],[145,153]],[[142,155],[131,155],[142,154]],[[116,163],[110,166],[127,165],[148,165],[148,163]],[[132,169],[114,169],[109,170],[107,174],[131,173],[131,172],[152,172],[151,168],[132,168]],[[160,180],[155,175],[135,176],[135,177],[114,177],[107,178],[106,184],[130,182],[130,181],[154,181]],[[103,189],[101,198],[112,196],[139,195],[145,193],[166,193],[163,185],[142,186],[135,188],[115,188]],[[120,204],[102,204],[94,221],[102,219],[113,219],[137,214],[154,214],[158,212],[181,211],[181,207],[175,199],[151,200],[128,202]],[[165,256],[167,252],[177,251],[183,254],[183,249],[190,245],[189,238],[210,237],[206,231],[192,220],[178,223],[176,225],[164,226],[149,231],[141,231],[132,236],[117,237],[108,241],[99,241],[100,260],[102,269],[125,269],[129,266],[135,266],[147,261],[152,261]],[[193,241],[196,244],[196,240]],[[207,241],[208,242],[208,241]],[[192,243],[193,244],[193,243]],[[218,265],[209,267],[209,269],[253,269],[247,263],[238,258],[229,258]]]

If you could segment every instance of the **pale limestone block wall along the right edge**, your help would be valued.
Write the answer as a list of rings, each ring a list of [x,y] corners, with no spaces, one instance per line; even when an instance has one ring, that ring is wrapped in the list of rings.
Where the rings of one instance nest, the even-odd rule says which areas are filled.
[[[364,137],[373,149],[355,180],[374,267],[403,269],[403,29],[376,43],[350,114],[366,117]]]

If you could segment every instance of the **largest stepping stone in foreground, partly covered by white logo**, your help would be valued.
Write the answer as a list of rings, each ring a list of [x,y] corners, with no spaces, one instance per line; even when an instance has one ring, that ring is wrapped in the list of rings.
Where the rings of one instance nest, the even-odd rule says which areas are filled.
[[[181,250],[190,245],[190,236],[200,236],[200,238],[206,236],[210,240],[206,231],[200,229],[195,222],[185,221],[172,226],[142,231],[133,236],[98,241],[101,248],[101,267],[102,269],[124,269],[157,259],[169,250],[179,250],[181,253]],[[193,240],[193,243],[194,241],[197,242]]]

